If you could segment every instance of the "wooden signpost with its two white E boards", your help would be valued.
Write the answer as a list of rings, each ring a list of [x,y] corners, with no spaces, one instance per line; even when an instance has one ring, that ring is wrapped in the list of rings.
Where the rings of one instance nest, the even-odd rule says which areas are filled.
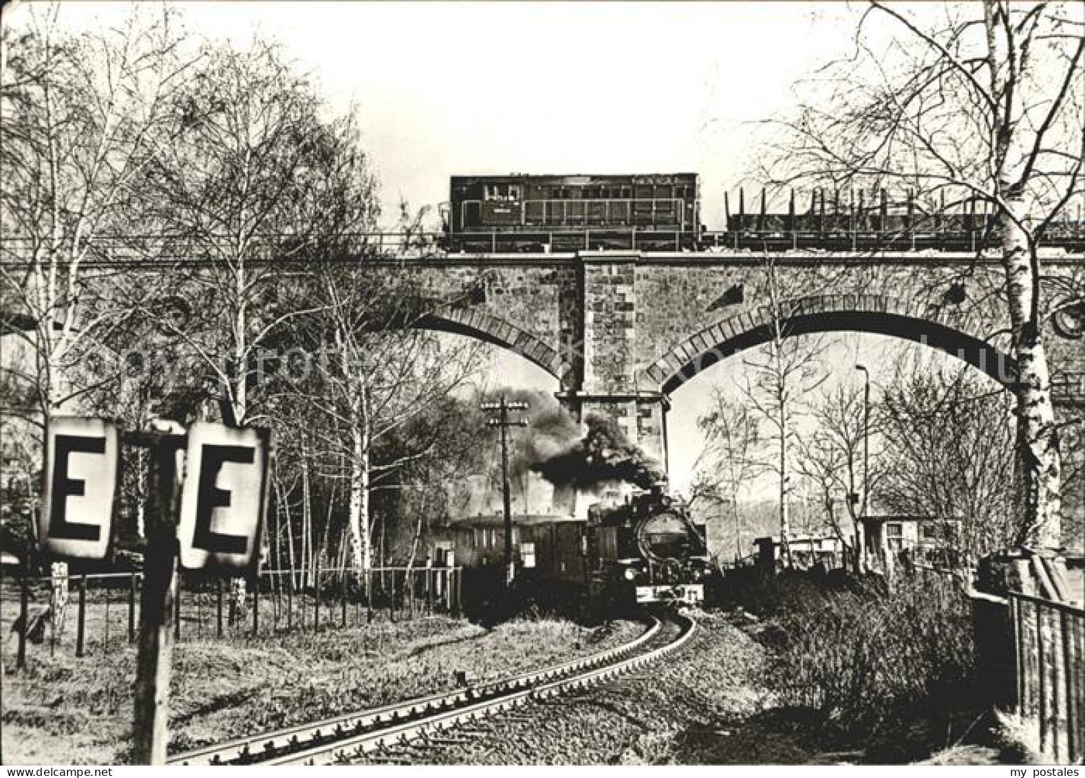
[[[120,443],[150,449],[146,551],[136,669],[137,764],[166,762],[178,561],[187,570],[255,572],[259,563],[268,430],[176,422],[122,435],[102,419],[49,421],[39,548],[62,559],[104,559],[113,528]]]

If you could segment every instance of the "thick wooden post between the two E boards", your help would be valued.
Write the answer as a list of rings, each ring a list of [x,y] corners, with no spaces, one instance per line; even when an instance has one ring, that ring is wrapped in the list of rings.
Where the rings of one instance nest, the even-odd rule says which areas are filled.
[[[132,761],[166,763],[169,740],[169,676],[173,646],[170,618],[177,591],[177,509],[181,473],[177,450],[181,435],[163,435],[151,447],[148,483],[146,552],[140,598],[139,649],[136,665],[136,722]]]

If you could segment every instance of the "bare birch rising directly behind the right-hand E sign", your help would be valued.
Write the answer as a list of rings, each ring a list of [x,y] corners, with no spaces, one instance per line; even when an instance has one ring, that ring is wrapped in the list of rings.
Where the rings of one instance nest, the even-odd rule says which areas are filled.
[[[319,307],[289,264],[361,251],[349,235],[373,229],[375,179],[353,122],[326,119],[273,42],[204,46],[171,105],[182,132],[148,184],[170,252],[200,262],[175,270],[193,320],[163,326],[207,377],[225,423],[269,424],[267,371],[289,347],[285,326]],[[243,612],[244,581],[231,591]]]

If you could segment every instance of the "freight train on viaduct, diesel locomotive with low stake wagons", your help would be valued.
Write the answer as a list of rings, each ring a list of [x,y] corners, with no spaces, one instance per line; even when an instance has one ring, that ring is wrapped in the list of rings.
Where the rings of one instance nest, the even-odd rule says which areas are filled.
[[[910,192],[791,192],[786,212],[769,212],[764,189],[749,211],[740,190],[735,209],[725,194],[724,230],[711,231],[695,173],[452,176],[449,189],[442,240],[450,252],[975,251],[997,240],[992,216],[974,201],[947,206]],[[1081,214],[1048,225],[1044,242],[1085,250]]]

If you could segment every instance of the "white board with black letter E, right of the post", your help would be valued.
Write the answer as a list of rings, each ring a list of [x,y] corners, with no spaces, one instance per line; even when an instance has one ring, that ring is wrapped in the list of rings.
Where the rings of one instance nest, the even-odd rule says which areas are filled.
[[[181,514],[181,566],[247,571],[258,562],[269,430],[195,422],[189,428]]]

